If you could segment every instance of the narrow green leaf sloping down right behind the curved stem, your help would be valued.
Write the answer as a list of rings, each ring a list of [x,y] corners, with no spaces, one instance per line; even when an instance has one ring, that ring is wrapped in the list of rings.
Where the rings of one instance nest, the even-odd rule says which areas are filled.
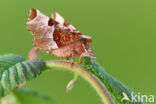
[[[81,66],[94,74],[104,84],[115,104],[132,104],[130,101],[122,100],[124,97],[123,93],[125,93],[131,100],[131,94],[133,93],[132,90],[127,88],[124,84],[113,78],[111,75],[107,74],[104,69],[90,57],[84,57]],[[138,98],[136,99],[138,100]],[[143,103],[133,102],[133,104]]]

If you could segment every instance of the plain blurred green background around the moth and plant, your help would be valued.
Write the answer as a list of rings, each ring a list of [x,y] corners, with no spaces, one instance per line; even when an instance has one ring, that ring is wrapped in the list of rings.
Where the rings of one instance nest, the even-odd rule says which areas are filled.
[[[156,0],[1,0],[0,54],[27,56],[33,37],[26,30],[30,8],[59,12],[83,34],[105,71],[136,93],[156,96]],[[45,60],[59,59],[40,52]],[[79,80],[68,94],[69,72],[48,71],[26,87],[51,96],[57,104],[101,104],[88,83]]]

